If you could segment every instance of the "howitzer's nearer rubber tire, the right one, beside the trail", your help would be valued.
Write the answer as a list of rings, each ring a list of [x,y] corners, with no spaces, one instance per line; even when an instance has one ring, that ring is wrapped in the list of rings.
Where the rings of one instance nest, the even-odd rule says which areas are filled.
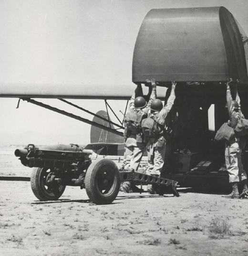
[[[118,167],[110,159],[96,160],[86,171],[85,189],[93,203],[112,203],[118,195],[120,185]]]

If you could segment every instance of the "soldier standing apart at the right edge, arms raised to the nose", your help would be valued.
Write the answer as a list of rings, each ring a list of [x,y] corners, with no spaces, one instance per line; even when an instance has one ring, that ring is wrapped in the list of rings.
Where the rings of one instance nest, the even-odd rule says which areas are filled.
[[[232,99],[230,91],[230,83],[232,79],[227,82],[227,109],[229,114],[229,121],[231,127],[237,125],[238,119],[244,118],[244,115],[240,109],[240,98],[238,96],[237,84],[236,84],[236,100]],[[227,171],[229,173],[229,182],[232,184],[232,192],[226,196],[226,198],[242,198],[248,196],[247,188],[247,174],[243,169],[241,163],[241,152],[245,148],[246,139],[242,136],[238,136],[235,133],[235,137],[230,141],[226,140],[225,147],[225,159]],[[238,194],[238,182],[241,182],[242,193]]]

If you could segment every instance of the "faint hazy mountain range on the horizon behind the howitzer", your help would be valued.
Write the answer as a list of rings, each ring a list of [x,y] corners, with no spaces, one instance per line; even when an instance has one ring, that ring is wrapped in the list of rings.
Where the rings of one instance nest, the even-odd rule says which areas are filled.
[[[10,145],[52,145],[52,144],[88,144],[90,138],[82,134],[42,134],[38,132],[24,132],[20,134],[0,133],[0,146]]]

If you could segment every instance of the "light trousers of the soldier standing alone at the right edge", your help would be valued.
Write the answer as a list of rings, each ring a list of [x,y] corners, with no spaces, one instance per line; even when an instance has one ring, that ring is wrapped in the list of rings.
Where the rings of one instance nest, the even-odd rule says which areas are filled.
[[[247,174],[241,162],[241,152],[242,149],[240,149],[238,142],[230,143],[229,149],[226,144],[225,159],[229,173],[229,182],[239,182],[247,179]]]

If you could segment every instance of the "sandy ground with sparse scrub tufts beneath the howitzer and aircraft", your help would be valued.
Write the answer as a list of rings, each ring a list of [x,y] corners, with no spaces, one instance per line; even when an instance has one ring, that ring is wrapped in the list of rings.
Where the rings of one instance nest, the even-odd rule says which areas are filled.
[[[31,169],[0,154],[0,175],[20,174]],[[248,255],[248,200],[178,191],[119,192],[114,203],[95,205],[67,187],[60,200],[40,202],[30,182],[0,181],[0,256]]]

